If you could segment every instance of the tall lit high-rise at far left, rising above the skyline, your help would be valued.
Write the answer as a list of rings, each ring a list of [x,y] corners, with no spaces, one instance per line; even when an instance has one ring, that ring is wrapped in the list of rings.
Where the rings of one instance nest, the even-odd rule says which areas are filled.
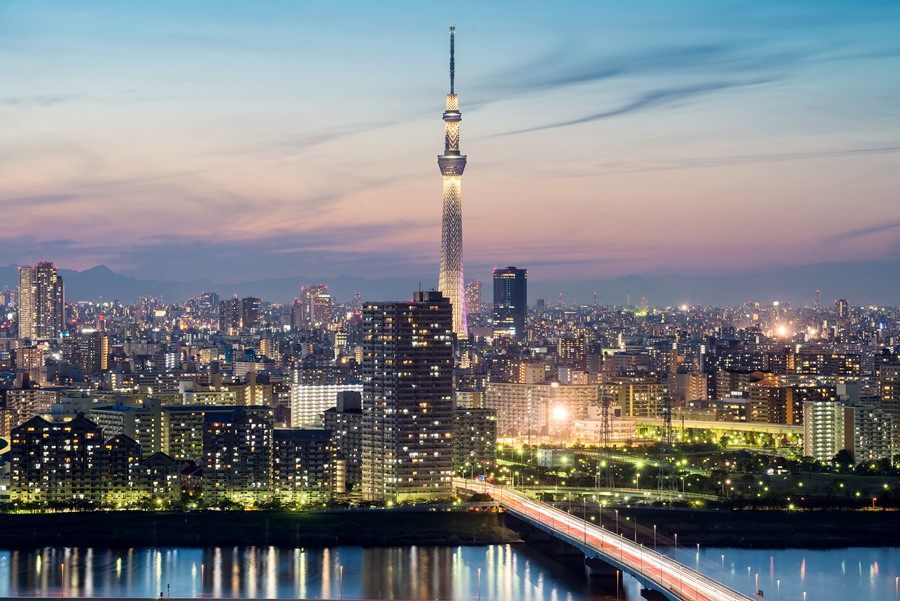
[[[19,268],[19,338],[58,338],[66,327],[63,280],[53,263]]]

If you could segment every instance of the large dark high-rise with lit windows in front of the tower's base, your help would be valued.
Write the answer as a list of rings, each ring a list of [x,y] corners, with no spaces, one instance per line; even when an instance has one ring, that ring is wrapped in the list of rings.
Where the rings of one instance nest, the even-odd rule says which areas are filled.
[[[362,493],[446,497],[453,470],[453,309],[439,292],[363,308]]]

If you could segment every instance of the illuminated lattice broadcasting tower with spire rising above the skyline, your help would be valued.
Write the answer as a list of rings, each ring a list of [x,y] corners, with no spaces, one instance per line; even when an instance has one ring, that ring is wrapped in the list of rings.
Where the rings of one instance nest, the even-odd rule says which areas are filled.
[[[450,28],[450,93],[444,107],[444,154],[438,167],[444,179],[444,211],[441,220],[441,271],[438,290],[453,305],[453,332],[457,339],[468,336],[466,294],[462,270],[462,174],[466,156],[459,152],[459,97],[453,89],[454,27]]]

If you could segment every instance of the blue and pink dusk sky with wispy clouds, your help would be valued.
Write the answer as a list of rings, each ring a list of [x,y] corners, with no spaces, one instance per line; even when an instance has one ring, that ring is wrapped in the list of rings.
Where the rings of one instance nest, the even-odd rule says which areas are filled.
[[[452,8],[451,8],[452,7]],[[0,3],[0,264],[468,279],[900,257],[900,3]]]

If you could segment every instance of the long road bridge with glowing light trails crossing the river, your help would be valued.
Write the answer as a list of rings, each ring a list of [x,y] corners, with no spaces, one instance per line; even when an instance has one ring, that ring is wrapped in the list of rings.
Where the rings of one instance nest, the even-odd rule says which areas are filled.
[[[490,495],[509,514],[610,568],[631,575],[648,599],[669,601],[747,601],[751,599],[671,557],[648,549],[561,509],[530,499],[515,490],[455,478],[454,487]],[[616,576],[618,578],[618,576]]]

